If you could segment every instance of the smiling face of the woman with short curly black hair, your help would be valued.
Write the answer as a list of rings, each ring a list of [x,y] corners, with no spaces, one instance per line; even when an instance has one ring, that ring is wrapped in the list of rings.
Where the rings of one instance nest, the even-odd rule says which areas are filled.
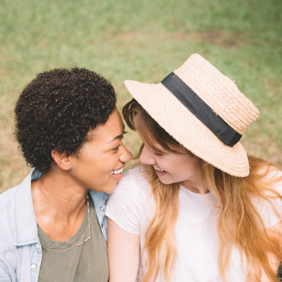
[[[97,192],[112,193],[122,177],[125,162],[131,153],[121,142],[124,124],[115,109],[108,120],[89,132],[93,135],[79,152],[79,156],[69,156],[69,175],[76,184]]]

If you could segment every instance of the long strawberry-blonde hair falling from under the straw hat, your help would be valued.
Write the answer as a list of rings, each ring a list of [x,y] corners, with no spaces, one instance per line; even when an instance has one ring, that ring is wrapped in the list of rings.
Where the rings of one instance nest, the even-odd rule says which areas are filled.
[[[157,153],[159,149],[156,148],[156,143],[173,153],[176,152],[169,145],[181,146],[136,100],[127,103],[122,109],[122,114],[129,128],[137,131]],[[142,149],[140,148],[138,156]],[[192,154],[188,150],[187,153]],[[245,256],[248,269],[257,281],[260,281],[261,268],[271,281],[278,281],[277,273],[271,269],[268,257],[273,255],[277,261],[282,260],[282,248],[277,236],[270,236],[266,232],[254,199],[269,202],[278,215],[272,199],[279,198],[282,201],[282,196],[273,190],[273,185],[281,181],[282,177],[275,176],[275,172],[279,171],[277,167],[259,158],[249,157],[249,164],[249,176],[241,178],[229,175],[199,159],[202,173],[199,192],[204,195],[204,187],[208,187],[215,197],[217,211],[220,212],[217,223],[220,242],[218,263],[223,280],[226,280],[225,270],[232,248],[237,247],[242,266]],[[142,282],[155,282],[160,272],[166,281],[170,281],[177,255],[175,224],[178,217],[180,183],[163,184],[152,165],[142,166],[145,168],[156,202],[156,213],[145,235],[143,253],[146,253],[147,261]],[[271,179],[269,175],[273,175]]]

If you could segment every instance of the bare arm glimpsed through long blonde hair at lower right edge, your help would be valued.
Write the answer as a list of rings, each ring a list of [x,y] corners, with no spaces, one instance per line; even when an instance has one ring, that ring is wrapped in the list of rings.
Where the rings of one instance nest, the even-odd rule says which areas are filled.
[[[282,246],[282,220],[279,221],[274,226],[267,228],[266,231],[269,236],[273,236],[273,237],[279,236],[280,246]],[[273,255],[269,255],[269,261],[270,261],[271,268],[273,269],[274,272],[277,273],[280,261],[277,261],[277,259],[273,257]],[[262,275],[261,275],[260,281],[261,282],[271,282],[270,279],[266,276],[263,269],[261,272],[262,272]],[[256,281],[257,280],[255,279],[253,274],[249,273],[246,282],[256,282]]]

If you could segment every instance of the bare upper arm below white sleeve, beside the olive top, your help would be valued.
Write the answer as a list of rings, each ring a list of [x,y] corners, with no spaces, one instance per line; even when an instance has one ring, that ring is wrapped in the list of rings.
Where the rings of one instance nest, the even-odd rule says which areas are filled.
[[[131,234],[108,219],[109,282],[136,281],[139,265],[139,235]]]

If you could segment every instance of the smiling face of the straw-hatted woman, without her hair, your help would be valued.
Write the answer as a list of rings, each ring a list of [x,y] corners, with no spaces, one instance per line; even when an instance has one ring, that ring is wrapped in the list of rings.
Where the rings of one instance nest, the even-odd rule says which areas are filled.
[[[169,145],[175,151],[173,153],[168,152],[157,143],[154,144],[155,149],[146,142],[144,144],[142,154],[139,157],[140,162],[153,165],[162,183],[181,182],[185,188],[198,192],[197,188],[201,177],[198,157],[188,153],[185,148],[180,146]]]

